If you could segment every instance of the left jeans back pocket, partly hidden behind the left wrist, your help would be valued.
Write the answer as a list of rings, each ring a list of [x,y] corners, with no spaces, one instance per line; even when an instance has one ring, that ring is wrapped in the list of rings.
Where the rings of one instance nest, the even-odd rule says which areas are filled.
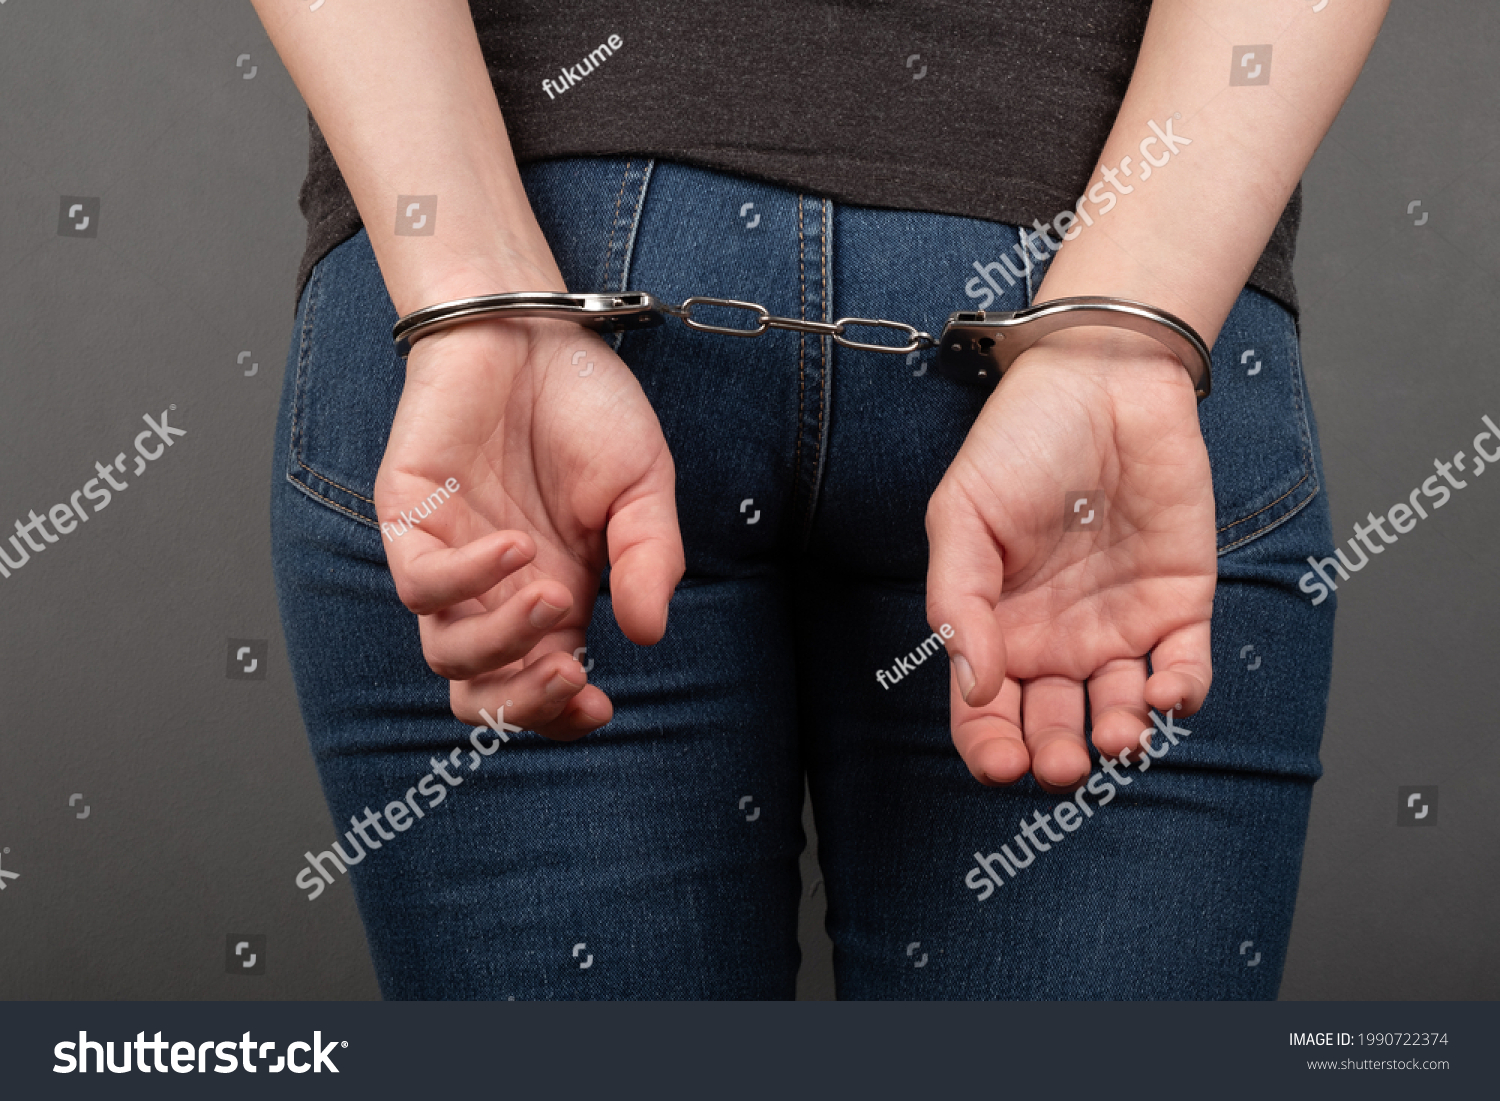
[[[524,165],[520,174],[568,288],[624,290],[651,160],[573,158]],[[366,230],[318,261],[300,316],[286,477],[378,530],[375,476],[406,368],[390,338],[396,308]]]

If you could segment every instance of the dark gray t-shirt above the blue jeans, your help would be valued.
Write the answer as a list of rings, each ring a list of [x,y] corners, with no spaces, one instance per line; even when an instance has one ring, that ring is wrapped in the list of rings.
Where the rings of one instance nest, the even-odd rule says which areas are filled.
[[[1150,0],[470,9],[520,162],[654,156],[837,202],[1029,226],[1089,186]],[[1178,132],[1191,138],[1191,122]],[[298,297],[312,266],[362,225],[310,116],[309,138]],[[1166,156],[1160,144],[1149,152]],[[1293,312],[1300,212],[1298,184],[1250,276]]]

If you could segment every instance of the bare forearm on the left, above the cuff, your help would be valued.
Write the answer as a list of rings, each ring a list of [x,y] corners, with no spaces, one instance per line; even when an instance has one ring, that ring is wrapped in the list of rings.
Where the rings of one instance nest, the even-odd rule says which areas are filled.
[[[308,0],[252,3],[327,138],[399,314],[470,294],[566,290],[465,0],[315,12]],[[398,195],[436,195],[430,236],[396,232]]]

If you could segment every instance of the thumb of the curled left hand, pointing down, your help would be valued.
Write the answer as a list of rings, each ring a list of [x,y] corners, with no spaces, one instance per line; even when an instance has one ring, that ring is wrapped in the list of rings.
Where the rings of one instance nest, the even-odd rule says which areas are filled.
[[[668,606],[687,567],[676,524],[676,472],[666,448],[610,512],[609,594],[627,639],[650,646],[666,634]]]

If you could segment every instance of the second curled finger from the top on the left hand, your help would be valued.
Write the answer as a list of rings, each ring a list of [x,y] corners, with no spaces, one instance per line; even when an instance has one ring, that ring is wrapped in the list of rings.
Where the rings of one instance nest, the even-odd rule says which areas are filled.
[[[567,585],[543,578],[488,612],[423,615],[422,654],[438,676],[466,681],[524,658],[572,609]]]

